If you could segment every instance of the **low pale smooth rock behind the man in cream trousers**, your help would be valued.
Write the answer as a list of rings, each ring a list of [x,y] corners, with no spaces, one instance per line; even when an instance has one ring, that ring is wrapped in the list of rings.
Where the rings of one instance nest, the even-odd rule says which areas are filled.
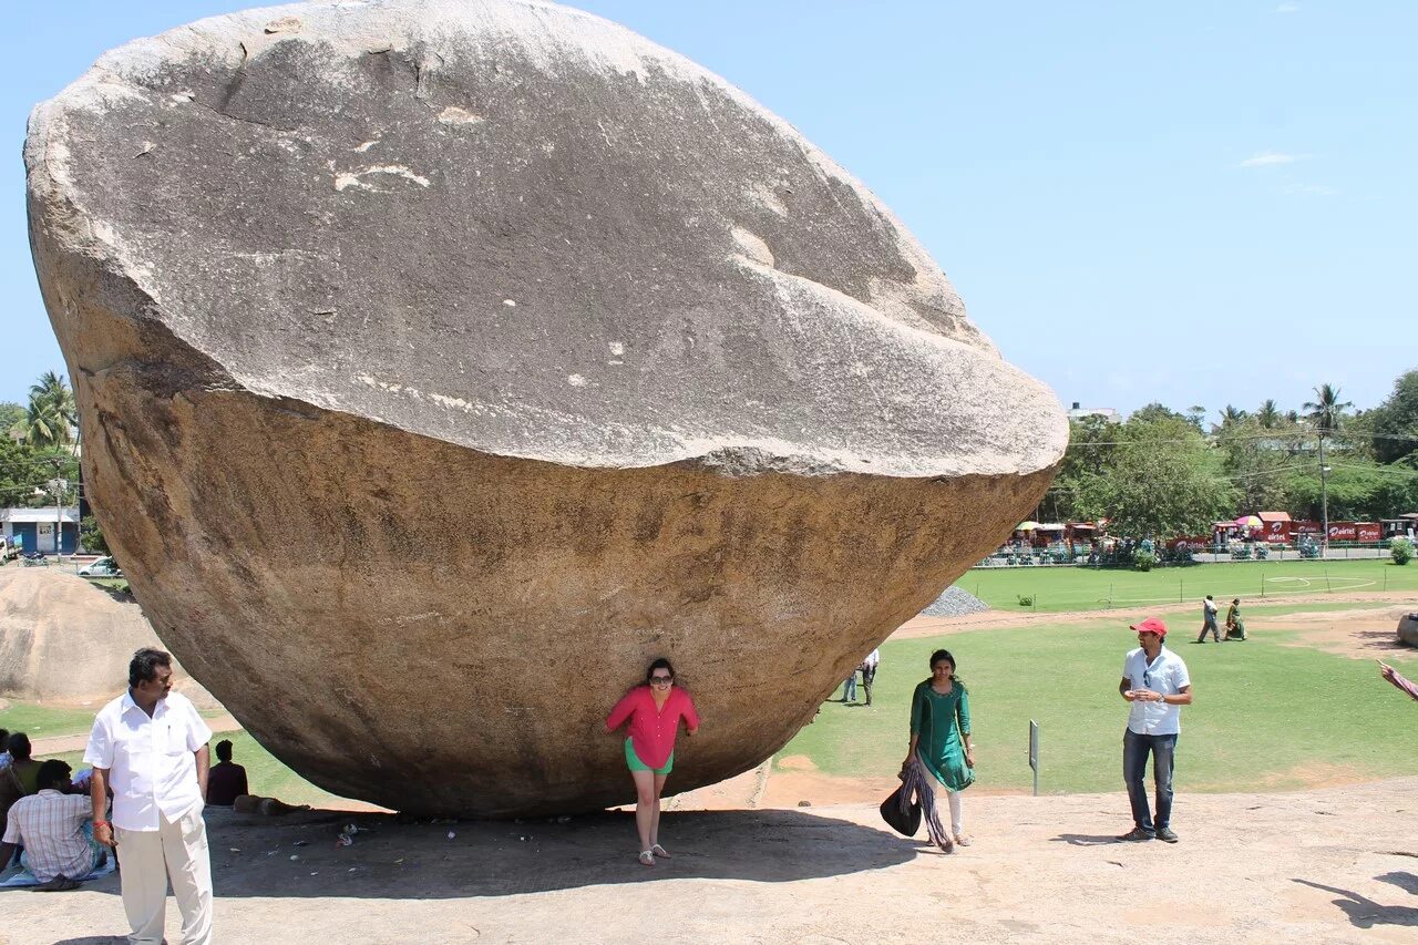
[[[128,685],[133,651],[160,646],[126,595],[58,568],[0,568],[0,694],[11,700],[104,702]],[[214,705],[180,665],[174,671],[180,692]]]

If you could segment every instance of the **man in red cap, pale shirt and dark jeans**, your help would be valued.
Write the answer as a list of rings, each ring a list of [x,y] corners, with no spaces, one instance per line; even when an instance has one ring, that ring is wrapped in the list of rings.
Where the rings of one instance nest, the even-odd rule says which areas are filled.
[[[1171,830],[1171,772],[1181,732],[1181,707],[1191,705],[1191,677],[1181,657],[1163,646],[1167,624],[1157,617],[1134,623],[1136,650],[1123,661],[1117,692],[1132,704],[1123,732],[1123,780],[1133,807],[1133,829],[1119,840],[1166,840],[1177,843]],[[1157,816],[1147,807],[1143,775],[1147,755],[1153,756],[1157,786]]]

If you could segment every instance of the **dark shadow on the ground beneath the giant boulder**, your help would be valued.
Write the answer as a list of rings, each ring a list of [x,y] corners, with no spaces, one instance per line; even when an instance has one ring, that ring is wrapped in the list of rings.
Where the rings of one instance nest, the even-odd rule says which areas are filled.
[[[343,824],[360,827],[336,844]],[[217,898],[475,898],[603,884],[712,878],[790,883],[898,866],[912,840],[800,810],[669,812],[672,858],[641,866],[635,819],[400,822],[396,814],[312,810],[257,819],[207,812]],[[85,888],[116,894],[118,875]],[[78,939],[88,941],[88,939]],[[95,942],[108,939],[94,939]]]

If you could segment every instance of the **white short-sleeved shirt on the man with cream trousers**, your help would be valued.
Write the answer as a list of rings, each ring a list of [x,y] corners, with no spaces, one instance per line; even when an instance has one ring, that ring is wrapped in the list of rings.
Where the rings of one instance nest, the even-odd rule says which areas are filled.
[[[99,709],[84,762],[108,769],[113,826],[157,830],[159,810],[173,822],[200,805],[193,752],[210,738],[211,729],[179,692],[157,700],[152,718],[129,692]]]

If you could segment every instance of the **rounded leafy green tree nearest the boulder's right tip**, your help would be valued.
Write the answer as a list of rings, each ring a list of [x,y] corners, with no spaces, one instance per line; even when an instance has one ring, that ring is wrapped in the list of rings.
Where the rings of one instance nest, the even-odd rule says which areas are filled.
[[[1109,519],[1116,535],[1173,538],[1208,535],[1235,508],[1235,490],[1215,468],[1215,458],[1191,420],[1151,411],[1115,427],[1117,447],[1107,465],[1076,482],[1082,518]]]

